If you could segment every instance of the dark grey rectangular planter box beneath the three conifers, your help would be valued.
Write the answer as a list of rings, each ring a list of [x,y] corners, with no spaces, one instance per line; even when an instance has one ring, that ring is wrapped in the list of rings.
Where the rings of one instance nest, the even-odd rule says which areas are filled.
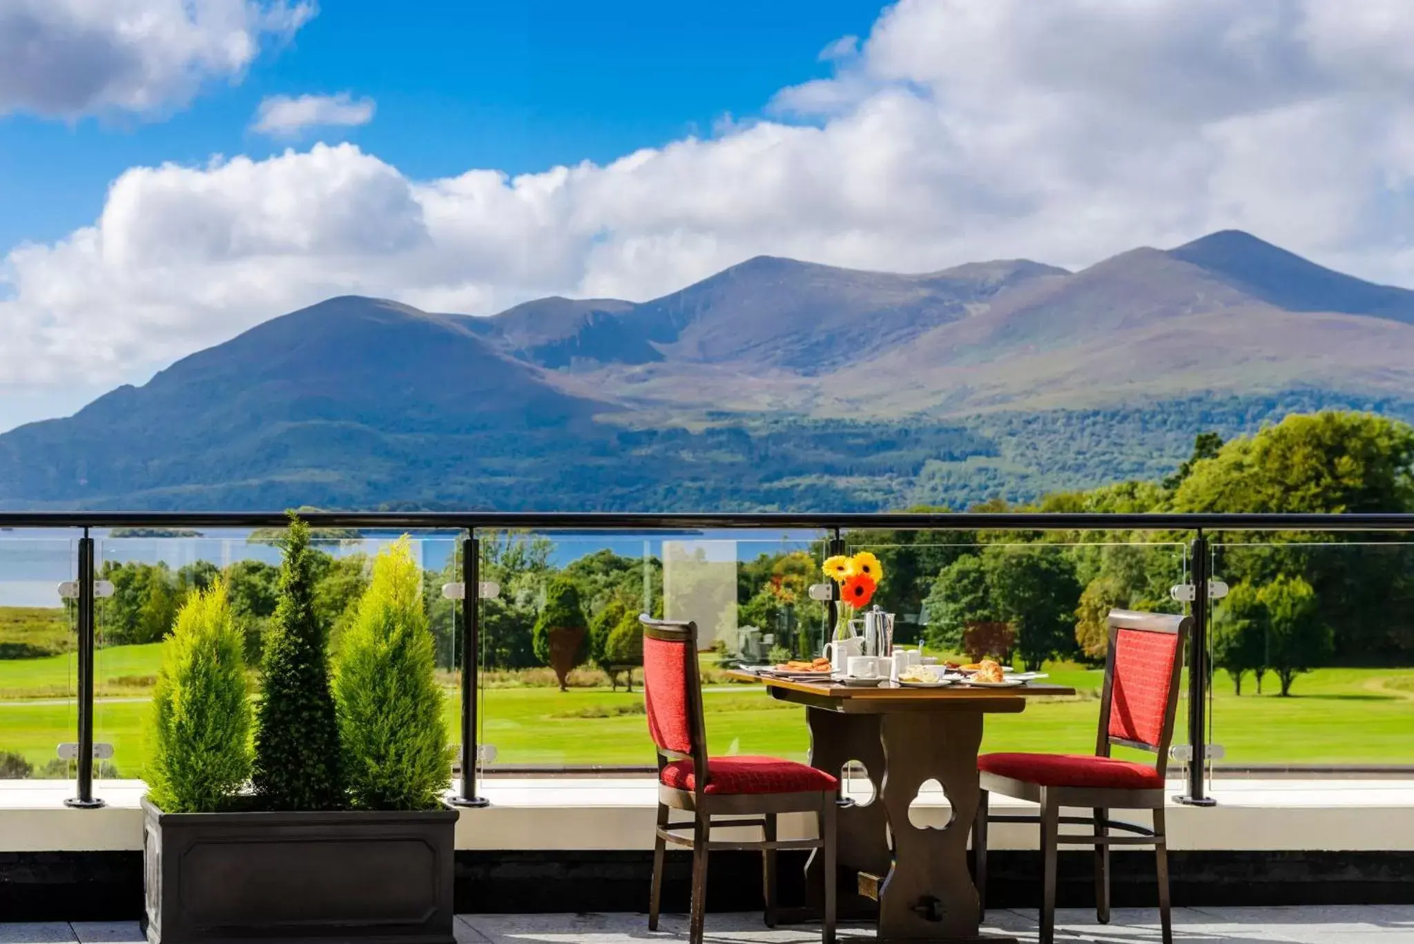
[[[455,810],[143,812],[151,944],[452,944]]]

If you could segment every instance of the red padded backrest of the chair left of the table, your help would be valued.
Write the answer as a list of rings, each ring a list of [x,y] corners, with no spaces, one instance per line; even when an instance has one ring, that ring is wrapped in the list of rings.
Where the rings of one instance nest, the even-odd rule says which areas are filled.
[[[659,767],[666,760],[691,759],[697,770],[707,770],[697,624],[649,616],[638,621],[643,624],[643,705]]]

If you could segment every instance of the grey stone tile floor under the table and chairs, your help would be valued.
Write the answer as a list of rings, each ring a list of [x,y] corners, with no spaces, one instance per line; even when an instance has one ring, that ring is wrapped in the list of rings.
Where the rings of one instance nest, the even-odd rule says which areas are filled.
[[[994,910],[986,930],[1021,941],[1036,940],[1036,913]],[[841,927],[843,937],[871,937],[864,927]],[[809,944],[819,926],[768,930],[759,913],[708,914],[708,944]],[[687,920],[665,914],[649,933],[642,914],[462,914],[457,940],[468,944],[648,944],[687,940]],[[1157,944],[1158,913],[1117,909],[1109,924],[1093,911],[1062,910],[1056,941],[1065,944]],[[136,921],[0,923],[0,944],[140,944]],[[1357,907],[1175,909],[1175,944],[1414,944],[1414,904]]]

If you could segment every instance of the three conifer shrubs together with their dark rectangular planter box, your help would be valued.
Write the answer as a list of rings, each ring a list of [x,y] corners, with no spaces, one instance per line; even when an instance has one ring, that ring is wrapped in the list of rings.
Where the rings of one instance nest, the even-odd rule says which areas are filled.
[[[143,801],[151,944],[454,940],[457,812],[417,565],[406,539],[378,556],[331,671],[314,555],[291,515],[253,750],[223,593],[189,601],[167,643]]]

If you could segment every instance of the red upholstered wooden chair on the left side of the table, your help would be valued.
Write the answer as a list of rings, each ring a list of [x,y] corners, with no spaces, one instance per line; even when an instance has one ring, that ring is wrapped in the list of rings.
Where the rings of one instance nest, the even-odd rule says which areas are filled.
[[[834,875],[834,808],[840,781],[807,764],[775,757],[708,757],[697,671],[697,626],[641,616],[643,624],[643,699],[648,730],[658,746],[658,834],[653,842],[653,892],[649,930],[658,930],[666,845],[693,851],[690,944],[701,944],[707,906],[707,853],[713,849],[761,849],[766,924],[776,919],[776,851],[819,849],[824,875]],[[701,773],[706,771],[706,777]],[[672,822],[672,811],[691,819]],[[782,812],[816,814],[819,839],[776,839]],[[717,818],[714,817],[730,817]],[[713,827],[759,827],[759,842],[717,842]],[[691,831],[691,835],[680,835]],[[824,944],[834,941],[834,883],[824,887]]]

